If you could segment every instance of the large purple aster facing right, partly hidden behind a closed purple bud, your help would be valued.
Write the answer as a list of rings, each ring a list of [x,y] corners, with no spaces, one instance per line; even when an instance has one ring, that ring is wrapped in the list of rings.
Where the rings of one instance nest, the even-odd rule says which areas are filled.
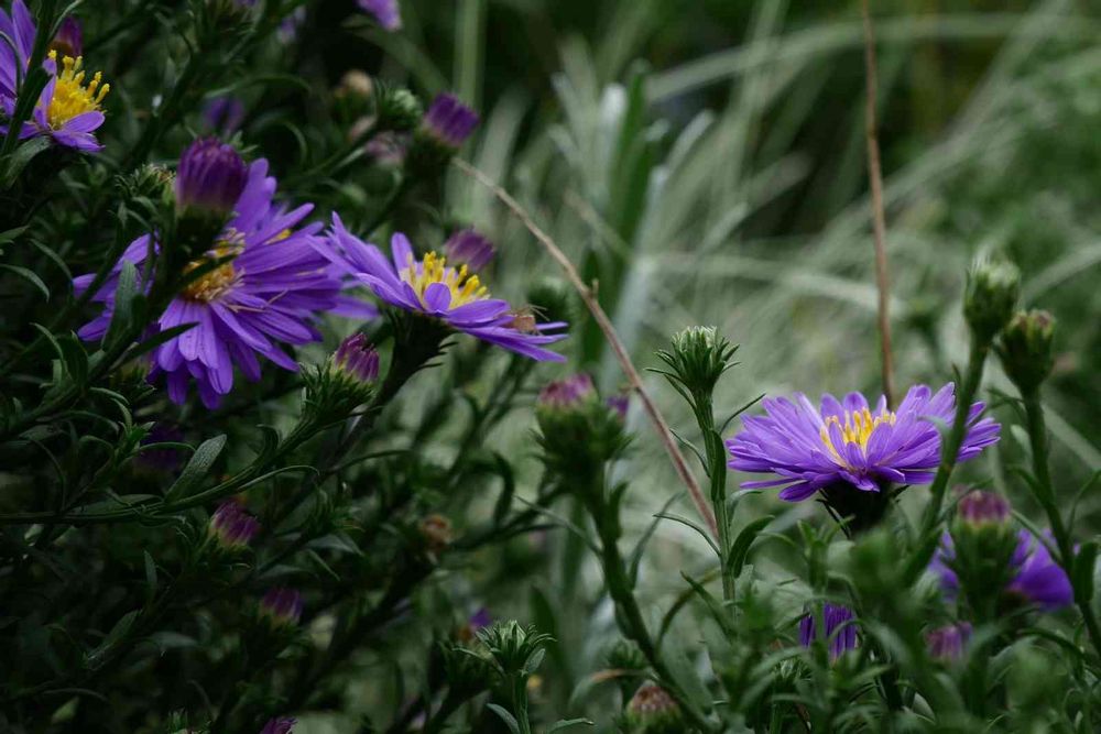
[[[212,259],[224,262],[178,293],[154,326],[155,332],[195,325],[151,354],[150,377],[164,375],[168,396],[175,403],[185,402],[194,380],[204,405],[217,407],[233,386],[235,365],[249,380],[260,379],[258,357],[297,371],[297,363],[277,342],[304,344],[319,340],[320,335],[312,326],[318,313],[363,318],[377,313],[373,307],[340,295],[339,276],[318,254],[321,242],[315,234],[320,224],[294,229],[313,206],[287,210],[273,201],[274,194],[275,179],[268,176],[268,162],[254,162],[233,206],[236,213],[219,241],[188,269]],[[151,249],[156,248],[151,239],[148,234],[140,237],[123,252],[111,276],[92,297],[105,308],[80,329],[81,339],[97,340],[107,332],[122,262],[133,263],[140,271]],[[77,277],[76,292],[83,293],[92,278],[91,274]]]

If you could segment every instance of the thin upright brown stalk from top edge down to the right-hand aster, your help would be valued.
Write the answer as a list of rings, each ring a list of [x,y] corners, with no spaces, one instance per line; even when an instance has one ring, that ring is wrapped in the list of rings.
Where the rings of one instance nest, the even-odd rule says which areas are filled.
[[[887,272],[887,222],[883,210],[883,171],[880,167],[880,141],[875,63],[875,29],[869,0],[861,0],[864,17],[864,78],[868,94],[864,102],[865,138],[868,139],[868,179],[872,189],[872,230],[875,243],[875,285],[879,289],[880,350],[883,369],[883,394],[887,405],[894,405],[894,360],[891,355],[891,278]]]

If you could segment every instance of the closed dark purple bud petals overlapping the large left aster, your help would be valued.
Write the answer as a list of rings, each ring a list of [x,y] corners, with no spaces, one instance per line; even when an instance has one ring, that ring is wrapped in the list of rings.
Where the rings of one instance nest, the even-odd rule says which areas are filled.
[[[226,216],[237,206],[249,171],[232,145],[200,138],[179,156],[176,208]]]

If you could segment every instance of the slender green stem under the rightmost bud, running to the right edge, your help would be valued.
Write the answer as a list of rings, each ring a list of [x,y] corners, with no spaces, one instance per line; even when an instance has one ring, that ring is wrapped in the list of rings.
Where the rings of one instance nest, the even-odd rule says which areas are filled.
[[[1062,570],[1067,572],[1067,578],[1073,581],[1075,573],[1075,544],[1070,537],[1070,528],[1062,519],[1062,513],[1055,497],[1055,484],[1051,482],[1050,462],[1048,459],[1048,437],[1047,424],[1044,420],[1044,406],[1039,399],[1039,388],[1022,392],[1022,399],[1025,404],[1025,420],[1028,430],[1028,443],[1032,447],[1033,475],[1036,480],[1033,486],[1036,501],[1047,513],[1047,522],[1051,526],[1051,535],[1055,536],[1055,545],[1059,551],[1058,561]],[[1092,600],[1086,599],[1075,588],[1075,603],[1082,614],[1082,622],[1086,632],[1090,637],[1090,643],[1098,655],[1101,655],[1101,626],[1098,625],[1097,614],[1093,612]]]

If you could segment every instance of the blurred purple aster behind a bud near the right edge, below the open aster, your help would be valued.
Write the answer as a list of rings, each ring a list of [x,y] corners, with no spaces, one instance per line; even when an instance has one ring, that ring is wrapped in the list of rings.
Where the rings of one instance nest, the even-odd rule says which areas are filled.
[[[939,577],[940,588],[949,599],[956,598],[960,585],[959,577],[951,568],[955,559],[955,543],[946,533],[929,570]],[[1017,546],[1010,567],[1012,574],[1005,587],[1005,594],[1010,598],[1036,604],[1045,611],[1057,610],[1075,601],[1075,591],[1066,571],[1051,558],[1047,546],[1028,530],[1017,532]]]

